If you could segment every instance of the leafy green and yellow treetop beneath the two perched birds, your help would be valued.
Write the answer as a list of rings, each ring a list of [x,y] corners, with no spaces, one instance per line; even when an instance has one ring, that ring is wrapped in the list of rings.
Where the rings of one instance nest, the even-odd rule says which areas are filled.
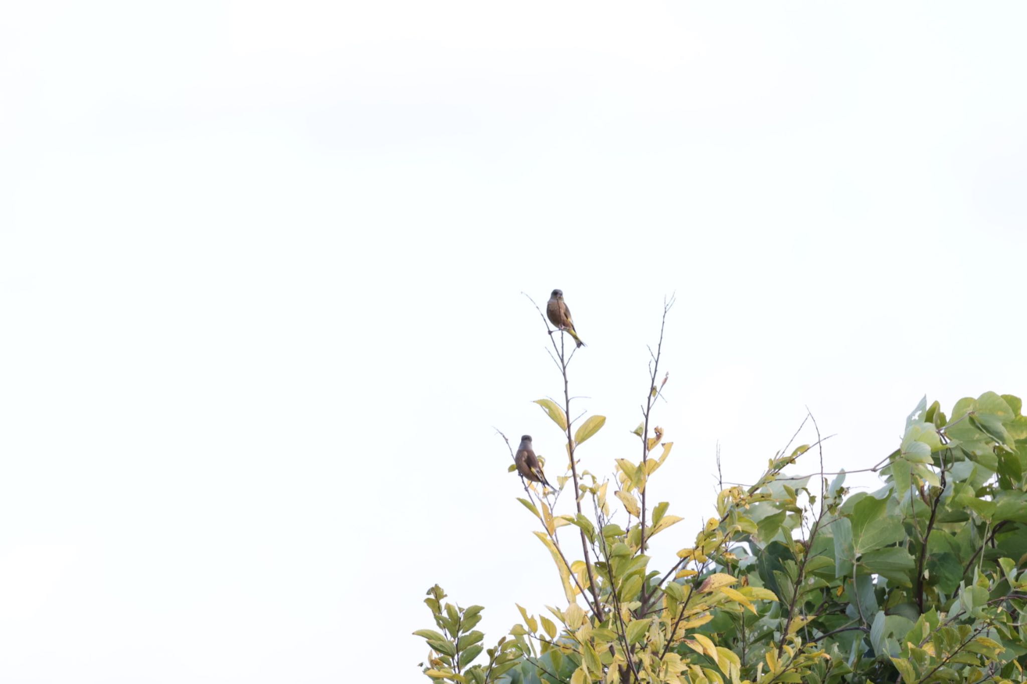
[[[663,323],[672,305],[664,304]],[[664,374],[657,383],[663,327],[635,430],[641,458],[616,459],[612,478],[600,480],[579,471],[575,454],[606,418],[582,416],[576,429],[568,420],[575,351],[546,326],[564,401],[537,403],[567,440],[567,473],[556,492],[525,482],[518,500],[540,528],[535,534],[553,556],[567,606],[536,617],[519,605],[523,623],[473,665],[484,650],[473,629],[483,608],[444,603],[433,587],[425,603],[441,631],[414,633],[430,648],[422,663],[428,677],[464,684],[1024,681],[1027,417],[1019,398],[960,399],[951,417],[937,401],[921,400],[899,448],[866,469],[882,487],[852,495],[844,472],[823,472],[823,440],[807,415],[816,441],[789,445],[755,482],[724,488],[692,546],[655,570],[650,539],[681,520],[668,501],[646,498],[673,447],[651,424],[668,381]],[[814,449],[819,472],[785,472]],[[564,491],[573,505],[557,514]],[[577,539],[571,544],[567,532],[580,540],[580,558],[572,559]]]

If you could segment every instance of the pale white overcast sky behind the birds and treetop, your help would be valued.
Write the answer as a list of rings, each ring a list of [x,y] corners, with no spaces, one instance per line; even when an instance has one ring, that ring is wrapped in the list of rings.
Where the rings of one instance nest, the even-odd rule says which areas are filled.
[[[418,681],[430,585],[489,642],[561,602],[492,430],[562,448],[522,290],[599,472],[677,292],[655,567],[718,440],[746,480],[808,405],[866,468],[923,394],[1027,394],[1025,19],[6,3],[0,680]]]

